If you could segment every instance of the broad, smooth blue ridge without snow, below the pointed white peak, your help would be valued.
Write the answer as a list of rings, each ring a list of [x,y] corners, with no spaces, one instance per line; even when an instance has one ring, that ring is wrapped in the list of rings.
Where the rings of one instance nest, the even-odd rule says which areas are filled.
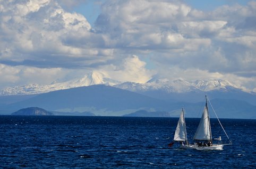
[[[140,108],[167,109],[165,101],[141,95],[139,93],[105,85],[93,85],[42,93],[33,98],[6,105],[2,109],[20,109],[22,107],[41,107],[51,111],[75,112],[89,111],[100,116],[120,116],[122,110]],[[106,114],[102,114],[106,112]],[[123,112],[124,113],[124,112]]]

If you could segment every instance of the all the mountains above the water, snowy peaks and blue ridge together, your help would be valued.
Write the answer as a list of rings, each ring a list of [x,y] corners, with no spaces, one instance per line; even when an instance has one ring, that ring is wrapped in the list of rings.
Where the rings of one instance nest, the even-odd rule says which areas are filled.
[[[148,115],[168,112],[170,117],[177,117],[184,106],[189,112],[187,117],[198,117],[206,93],[218,105],[216,110],[223,112],[220,118],[256,118],[256,94],[225,80],[151,79],[134,83],[116,81],[99,72],[62,83],[3,89],[0,114],[40,107],[65,115],[91,112],[97,116],[123,116],[145,110]]]

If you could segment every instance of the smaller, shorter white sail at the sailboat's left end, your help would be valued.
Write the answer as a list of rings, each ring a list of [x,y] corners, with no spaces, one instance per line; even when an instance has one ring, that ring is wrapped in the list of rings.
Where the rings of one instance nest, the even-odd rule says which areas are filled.
[[[175,141],[186,141],[186,124],[184,119],[184,111],[182,109],[180,119],[175,130],[174,139]]]

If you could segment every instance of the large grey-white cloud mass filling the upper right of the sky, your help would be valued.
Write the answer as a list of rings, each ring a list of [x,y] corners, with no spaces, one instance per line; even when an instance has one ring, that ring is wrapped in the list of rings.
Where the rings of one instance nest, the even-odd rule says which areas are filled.
[[[250,72],[255,70],[255,29],[249,33],[238,25],[254,15],[250,4],[206,13],[172,1],[110,1],[103,6],[96,29],[107,35],[112,48],[153,51],[150,59],[165,69]]]

